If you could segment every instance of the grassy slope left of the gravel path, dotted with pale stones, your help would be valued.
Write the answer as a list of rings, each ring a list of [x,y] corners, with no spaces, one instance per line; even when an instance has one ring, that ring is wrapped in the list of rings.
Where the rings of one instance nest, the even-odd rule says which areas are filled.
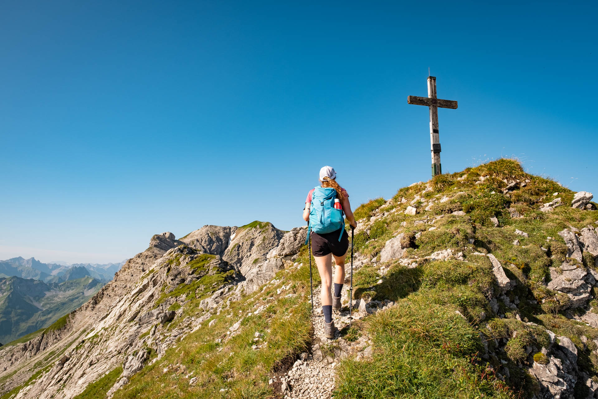
[[[299,261],[307,261],[306,251],[302,252]],[[297,269],[282,270],[276,276],[277,279],[296,279],[292,289],[294,297],[286,297],[289,291],[276,294],[276,288],[283,284],[280,282],[272,286],[272,292],[258,290],[251,296],[231,302],[212,318],[216,319],[212,327],[208,327],[206,321],[199,330],[168,349],[156,363],[135,374],[114,398],[271,397],[270,373],[283,358],[306,351],[311,339],[311,307],[306,301],[309,274],[307,276],[306,280],[304,272]],[[267,300],[269,296],[274,297],[274,301]],[[193,307],[193,304],[185,306]],[[263,312],[248,315],[260,306],[266,307]],[[228,327],[242,316],[239,334],[227,339]],[[258,351],[251,348],[255,343],[255,332],[264,334],[257,344],[266,344]],[[216,339],[222,342],[216,343]],[[189,386],[182,373],[163,373],[164,367],[178,363],[185,367],[185,374],[193,371],[193,376],[198,378],[195,386]],[[220,392],[222,388],[228,390]]]

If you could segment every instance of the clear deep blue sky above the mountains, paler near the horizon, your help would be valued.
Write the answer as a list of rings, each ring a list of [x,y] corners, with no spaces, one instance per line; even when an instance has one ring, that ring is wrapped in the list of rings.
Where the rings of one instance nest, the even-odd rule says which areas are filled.
[[[404,4],[401,4],[404,3]],[[501,156],[598,197],[587,2],[10,1],[0,11],[0,259],[120,261],[152,234],[304,224]]]

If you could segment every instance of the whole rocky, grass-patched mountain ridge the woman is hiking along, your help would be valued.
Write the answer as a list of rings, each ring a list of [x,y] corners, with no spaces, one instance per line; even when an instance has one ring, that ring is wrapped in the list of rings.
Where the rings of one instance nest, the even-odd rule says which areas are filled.
[[[310,313],[305,228],[156,234],[86,304],[0,347],[1,389],[320,398],[335,379],[338,397],[595,397],[591,199],[499,160],[359,206],[356,318],[345,289],[334,340]]]

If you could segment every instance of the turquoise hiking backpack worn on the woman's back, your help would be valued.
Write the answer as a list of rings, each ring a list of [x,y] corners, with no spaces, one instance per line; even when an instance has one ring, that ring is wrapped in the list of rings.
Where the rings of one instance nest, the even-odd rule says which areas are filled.
[[[313,190],[312,203],[309,209],[309,229],[307,229],[307,239],[309,242],[310,232],[326,234],[336,232],[340,229],[340,241],[344,232],[344,218],[342,209],[334,208],[334,199],[337,192],[332,187],[318,186]],[[343,229],[341,229],[343,227]]]

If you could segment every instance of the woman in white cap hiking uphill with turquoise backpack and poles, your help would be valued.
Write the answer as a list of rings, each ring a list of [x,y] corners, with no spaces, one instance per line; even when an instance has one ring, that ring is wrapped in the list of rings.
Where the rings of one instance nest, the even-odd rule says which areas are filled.
[[[324,313],[324,335],[327,338],[334,338],[332,310],[340,311],[341,308],[344,260],[349,249],[349,234],[344,229],[343,212],[353,229],[357,226],[351,211],[349,194],[338,185],[335,179],[336,172],[332,167],[322,167],[319,176],[320,185],[309,191],[303,209],[303,220],[309,221],[307,240],[311,236],[312,254],[322,279],[320,299],[322,313]],[[332,256],[334,256],[336,270],[334,295],[331,296]]]

